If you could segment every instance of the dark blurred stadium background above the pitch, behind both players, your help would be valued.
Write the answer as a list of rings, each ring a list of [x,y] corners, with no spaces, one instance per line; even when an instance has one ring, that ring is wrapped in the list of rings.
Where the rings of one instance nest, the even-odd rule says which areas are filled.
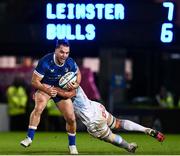
[[[82,80],[87,95],[101,101],[116,116],[165,132],[180,132],[174,123],[180,114],[180,1],[169,1],[174,5],[172,20],[168,20],[169,10],[163,7],[163,2],[119,0],[116,3],[125,8],[124,20],[49,20],[46,5],[55,6],[56,0],[1,0],[0,111],[3,113],[0,113],[0,130],[11,130],[2,117],[7,111],[8,123],[7,89],[17,77],[26,83],[28,100],[24,120],[28,121],[34,106],[31,100],[34,90],[30,85],[32,71],[38,59],[53,52],[56,44],[56,39],[46,38],[47,24],[71,24],[72,29],[80,24],[83,33],[85,26],[91,23],[96,27],[94,40],[70,40],[70,56],[79,64],[83,77],[93,77],[89,84]],[[73,3],[115,4],[110,0]],[[173,25],[172,29],[167,29],[173,34],[168,43],[160,40],[164,23]],[[91,85],[92,89],[88,90]],[[44,116],[41,129],[49,130],[48,110]]]

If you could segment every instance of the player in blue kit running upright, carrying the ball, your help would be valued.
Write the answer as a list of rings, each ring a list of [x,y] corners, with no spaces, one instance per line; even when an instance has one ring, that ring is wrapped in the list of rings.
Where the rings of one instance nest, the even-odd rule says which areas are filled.
[[[50,98],[54,100],[59,110],[66,120],[66,130],[69,140],[70,154],[78,154],[76,148],[76,120],[74,115],[71,96],[68,97],[62,92],[63,96],[57,95],[55,87],[59,86],[59,79],[65,73],[72,71],[77,73],[77,81],[70,89],[76,89],[81,81],[81,74],[75,61],[69,57],[70,45],[65,39],[58,42],[55,52],[42,57],[32,75],[32,86],[37,89],[34,94],[35,107],[30,115],[27,137],[21,141],[24,147],[30,146],[33,141],[35,131],[39,125],[41,114],[45,109]],[[59,88],[59,92],[60,92]]]

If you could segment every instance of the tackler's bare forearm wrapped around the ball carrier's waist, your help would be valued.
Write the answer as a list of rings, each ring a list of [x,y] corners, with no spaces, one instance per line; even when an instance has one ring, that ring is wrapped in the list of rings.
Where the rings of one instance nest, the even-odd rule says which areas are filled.
[[[61,89],[59,87],[54,87],[54,88],[57,91],[57,95],[65,98],[65,99],[72,98],[76,95],[75,89],[68,91],[68,90]]]

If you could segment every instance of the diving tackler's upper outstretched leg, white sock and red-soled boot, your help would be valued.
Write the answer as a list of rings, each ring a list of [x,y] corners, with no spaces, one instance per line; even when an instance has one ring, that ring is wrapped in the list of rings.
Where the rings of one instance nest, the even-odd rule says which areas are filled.
[[[137,124],[130,120],[117,119],[110,113],[109,113],[107,123],[111,129],[115,129],[115,130],[124,129],[127,131],[144,132],[145,134],[148,134],[148,135],[156,138],[160,142],[164,141],[164,139],[165,139],[164,135],[159,131],[153,130],[148,127],[144,127],[144,126]]]

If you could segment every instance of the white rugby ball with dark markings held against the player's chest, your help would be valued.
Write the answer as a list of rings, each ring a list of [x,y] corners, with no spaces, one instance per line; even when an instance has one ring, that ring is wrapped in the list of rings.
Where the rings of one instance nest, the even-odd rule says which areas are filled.
[[[59,86],[66,89],[69,82],[75,82],[77,75],[74,72],[68,72],[59,79]]]

